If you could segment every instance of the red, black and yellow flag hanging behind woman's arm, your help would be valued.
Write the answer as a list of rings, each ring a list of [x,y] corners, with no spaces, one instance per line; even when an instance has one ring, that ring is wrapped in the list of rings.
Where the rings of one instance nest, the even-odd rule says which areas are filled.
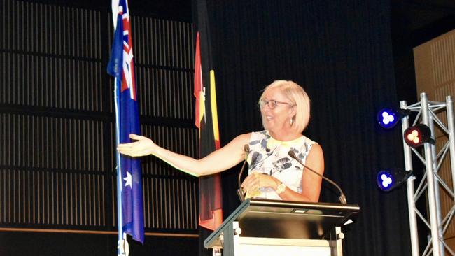
[[[218,114],[216,110],[215,71],[211,56],[211,41],[207,3],[195,1],[195,97],[196,126],[199,128],[200,157],[220,148]],[[223,222],[221,176],[219,173],[199,179],[199,224],[215,230]]]

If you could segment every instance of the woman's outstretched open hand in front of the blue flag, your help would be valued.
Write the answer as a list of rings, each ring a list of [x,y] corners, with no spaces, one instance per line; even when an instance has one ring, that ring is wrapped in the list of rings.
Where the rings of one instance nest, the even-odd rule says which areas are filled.
[[[118,152],[131,157],[142,157],[144,155],[153,155],[156,145],[150,138],[130,134],[130,138],[137,140],[132,143],[123,143],[117,146]]]

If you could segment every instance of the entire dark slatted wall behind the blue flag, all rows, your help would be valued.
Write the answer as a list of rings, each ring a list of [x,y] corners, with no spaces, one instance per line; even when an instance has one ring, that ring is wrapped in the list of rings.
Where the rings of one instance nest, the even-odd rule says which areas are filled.
[[[111,14],[0,8],[0,226],[116,230]],[[132,16],[132,34],[143,134],[195,157],[192,25]],[[194,233],[197,179],[154,157],[143,172],[146,231]]]

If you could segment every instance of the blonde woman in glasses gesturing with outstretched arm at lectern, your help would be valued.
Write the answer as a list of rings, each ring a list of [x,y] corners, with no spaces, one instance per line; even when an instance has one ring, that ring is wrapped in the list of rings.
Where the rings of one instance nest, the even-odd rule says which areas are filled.
[[[310,116],[307,93],[293,81],[276,80],[265,87],[259,105],[263,131],[241,134],[202,159],[166,150],[150,138],[136,134],[130,134],[136,141],[120,144],[117,149],[132,157],[155,155],[193,176],[225,171],[247,159],[248,177],[241,184],[246,197],[318,201],[321,176],[293,159],[297,157],[305,166],[323,174],[321,146],[302,135]]]

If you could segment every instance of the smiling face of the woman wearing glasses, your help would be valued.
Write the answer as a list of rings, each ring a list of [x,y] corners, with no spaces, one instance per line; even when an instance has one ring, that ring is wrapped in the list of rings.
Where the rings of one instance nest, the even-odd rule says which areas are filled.
[[[293,116],[293,104],[281,93],[279,88],[267,90],[260,106],[262,124],[265,129],[276,132],[290,128],[289,120]]]

